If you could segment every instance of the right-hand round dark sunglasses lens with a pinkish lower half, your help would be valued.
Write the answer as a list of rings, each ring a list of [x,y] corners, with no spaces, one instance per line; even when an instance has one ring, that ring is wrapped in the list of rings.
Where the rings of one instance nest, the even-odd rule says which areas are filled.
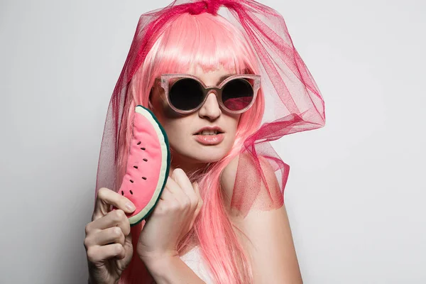
[[[231,111],[241,111],[251,104],[253,87],[249,81],[238,78],[227,82],[222,89],[222,101]]]

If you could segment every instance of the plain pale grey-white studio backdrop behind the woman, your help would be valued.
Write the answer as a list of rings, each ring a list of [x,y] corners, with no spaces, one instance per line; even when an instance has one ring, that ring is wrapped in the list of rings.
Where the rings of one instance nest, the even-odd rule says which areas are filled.
[[[87,283],[109,97],[138,18],[169,1],[0,2],[0,283]],[[261,1],[326,102],[274,143],[305,283],[426,283],[426,4]]]

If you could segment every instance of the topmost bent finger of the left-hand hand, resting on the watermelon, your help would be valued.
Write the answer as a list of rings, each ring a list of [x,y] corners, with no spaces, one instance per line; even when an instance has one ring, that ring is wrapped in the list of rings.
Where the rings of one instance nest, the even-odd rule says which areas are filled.
[[[102,187],[97,192],[97,200],[94,205],[92,221],[104,217],[109,212],[110,205],[123,210],[126,213],[131,213],[135,210],[133,203],[126,197],[119,195],[113,190]]]

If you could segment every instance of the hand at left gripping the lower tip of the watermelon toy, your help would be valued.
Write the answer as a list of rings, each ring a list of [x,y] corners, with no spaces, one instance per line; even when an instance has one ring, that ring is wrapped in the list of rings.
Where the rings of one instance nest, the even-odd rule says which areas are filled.
[[[109,211],[110,205],[117,209]],[[118,283],[121,273],[129,266],[133,246],[125,212],[134,210],[133,203],[119,193],[105,187],[98,191],[92,222],[86,225],[84,238],[89,283]]]

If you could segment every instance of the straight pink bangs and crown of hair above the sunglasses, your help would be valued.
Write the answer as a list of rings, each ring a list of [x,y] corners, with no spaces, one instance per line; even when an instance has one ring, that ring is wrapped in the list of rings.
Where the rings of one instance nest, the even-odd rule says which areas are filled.
[[[185,73],[195,66],[204,72],[220,67],[245,72],[247,47],[238,36],[241,32],[231,29],[222,16],[183,13],[160,35],[152,74]]]

